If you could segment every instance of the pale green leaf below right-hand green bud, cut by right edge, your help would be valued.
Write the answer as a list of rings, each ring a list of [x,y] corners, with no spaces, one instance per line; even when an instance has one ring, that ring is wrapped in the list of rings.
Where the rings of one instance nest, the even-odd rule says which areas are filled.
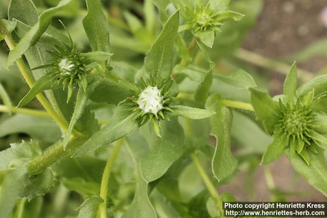
[[[309,166],[299,155],[291,155],[290,149],[286,150],[286,155],[295,171],[323,193],[324,196],[327,196],[327,166],[323,152],[319,149],[318,154],[312,152],[308,152],[308,154],[311,159]]]

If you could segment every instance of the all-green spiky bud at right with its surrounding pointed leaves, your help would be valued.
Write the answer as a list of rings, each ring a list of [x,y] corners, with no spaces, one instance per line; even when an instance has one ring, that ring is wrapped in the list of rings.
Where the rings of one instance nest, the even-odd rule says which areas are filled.
[[[315,109],[317,102],[324,96],[315,96],[314,89],[301,98],[296,94],[297,89],[296,63],[291,67],[284,84],[284,95],[271,99],[266,92],[250,89],[251,102],[258,119],[263,120],[266,131],[274,136],[274,141],[268,147],[262,158],[267,164],[290,148],[303,161],[310,165],[309,153],[318,153],[318,147],[324,148],[327,138],[324,134],[325,124],[318,119],[321,114]],[[275,101],[274,101],[275,100]],[[278,101],[278,102],[277,102]]]

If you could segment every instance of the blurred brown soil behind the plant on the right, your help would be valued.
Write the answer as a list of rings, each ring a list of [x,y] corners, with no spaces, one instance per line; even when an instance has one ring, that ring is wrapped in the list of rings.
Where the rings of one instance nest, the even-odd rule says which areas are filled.
[[[326,0],[266,0],[258,23],[250,31],[242,47],[268,58],[289,57],[310,43],[327,37],[327,22],[323,21],[323,17],[327,17],[325,8]],[[326,58],[314,57],[298,63],[298,66],[317,72],[326,64]],[[271,93],[282,93],[285,76],[273,71],[269,73]],[[289,201],[326,201],[320,192],[294,173],[285,155],[269,167],[277,188],[301,192],[299,195],[287,197]],[[238,173],[229,184],[220,186],[220,192],[229,191],[241,201],[269,200],[262,166],[255,172],[254,177],[251,188],[255,194],[252,198],[248,196],[245,188],[246,172]]]

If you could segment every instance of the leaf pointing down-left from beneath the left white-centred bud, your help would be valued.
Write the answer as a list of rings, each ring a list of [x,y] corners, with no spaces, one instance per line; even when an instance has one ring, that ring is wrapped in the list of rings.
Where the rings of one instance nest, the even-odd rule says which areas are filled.
[[[50,74],[44,74],[40,79],[38,79],[29,92],[20,100],[17,107],[23,107],[32,101],[35,96],[41,91],[51,89],[57,82],[51,77]]]

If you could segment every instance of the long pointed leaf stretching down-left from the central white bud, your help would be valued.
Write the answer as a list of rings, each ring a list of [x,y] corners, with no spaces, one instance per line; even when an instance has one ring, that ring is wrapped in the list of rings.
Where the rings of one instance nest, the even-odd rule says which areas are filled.
[[[121,102],[118,107],[116,107],[114,114],[112,115],[112,120],[103,129],[92,135],[74,154],[74,156],[80,156],[102,146],[108,146],[110,143],[128,135],[137,129],[138,121],[135,120],[137,115],[135,112],[130,113],[130,107],[124,105]]]

